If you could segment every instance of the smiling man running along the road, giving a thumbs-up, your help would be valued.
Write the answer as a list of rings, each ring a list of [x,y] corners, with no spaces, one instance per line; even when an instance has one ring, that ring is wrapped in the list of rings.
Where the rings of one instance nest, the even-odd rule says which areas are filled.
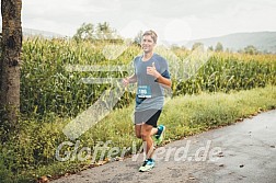
[[[165,126],[157,126],[164,104],[164,88],[171,88],[168,61],[153,53],[157,44],[157,34],[147,31],[142,35],[141,48],[143,54],[134,59],[135,73],[123,79],[125,85],[137,82],[135,106],[135,133],[143,141],[146,160],[139,171],[149,171],[154,167],[153,139],[160,145],[163,139]]]

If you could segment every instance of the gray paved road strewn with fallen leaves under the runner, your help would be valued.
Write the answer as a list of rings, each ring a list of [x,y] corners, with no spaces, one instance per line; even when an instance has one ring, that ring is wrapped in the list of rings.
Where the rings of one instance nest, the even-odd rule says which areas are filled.
[[[157,167],[150,172],[138,172],[140,155],[53,183],[276,183],[275,146],[274,110],[158,148]]]

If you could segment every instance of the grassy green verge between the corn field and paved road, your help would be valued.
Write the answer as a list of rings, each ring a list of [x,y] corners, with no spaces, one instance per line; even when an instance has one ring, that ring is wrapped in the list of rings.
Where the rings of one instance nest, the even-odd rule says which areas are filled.
[[[135,137],[129,107],[113,111],[80,138],[80,147],[92,149],[97,141],[111,140],[112,147],[137,147],[141,141]],[[257,88],[231,93],[202,93],[175,96],[168,101],[160,117],[166,126],[165,141],[181,139],[210,128],[233,124],[237,119],[255,115],[261,111],[276,107],[276,87]],[[38,176],[51,176],[85,169],[88,161],[59,162],[55,159],[58,145],[69,141],[62,127],[70,119],[50,117],[50,122],[37,123],[32,119],[21,123],[20,139],[1,145],[0,179],[15,182],[30,182]],[[73,151],[72,147],[64,149]],[[100,151],[101,152],[101,151]],[[99,153],[100,153],[99,152]],[[120,153],[118,153],[119,156]],[[116,156],[116,155],[115,155]],[[97,156],[97,158],[100,155]],[[11,179],[11,176],[13,179]]]

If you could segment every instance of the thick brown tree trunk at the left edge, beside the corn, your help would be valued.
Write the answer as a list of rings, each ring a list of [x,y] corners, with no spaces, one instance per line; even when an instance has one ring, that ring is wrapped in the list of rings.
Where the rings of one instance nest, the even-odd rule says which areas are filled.
[[[8,121],[11,130],[18,124],[20,112],[21,9],[22,0],[1,0],[0,125]]]

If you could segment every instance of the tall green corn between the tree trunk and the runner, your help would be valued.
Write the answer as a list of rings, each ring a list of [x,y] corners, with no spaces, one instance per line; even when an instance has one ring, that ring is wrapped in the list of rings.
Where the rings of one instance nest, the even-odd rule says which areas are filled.
[[[94,47],[94,48],[92,48]],[[94,46],[84,42],[60,39],[28,39],[23,44],[21,75],[21,112],[28,115],[76,116],[91,106],[110,84],[85,84],[82,78],[122,78],[126,72],[72,72],[67,66],[119,66],[128,65],[139,49],[133,48],[116,61],[110,61],[103,55],[104,45]],[[128,103],[123,100],[118,105]]]

